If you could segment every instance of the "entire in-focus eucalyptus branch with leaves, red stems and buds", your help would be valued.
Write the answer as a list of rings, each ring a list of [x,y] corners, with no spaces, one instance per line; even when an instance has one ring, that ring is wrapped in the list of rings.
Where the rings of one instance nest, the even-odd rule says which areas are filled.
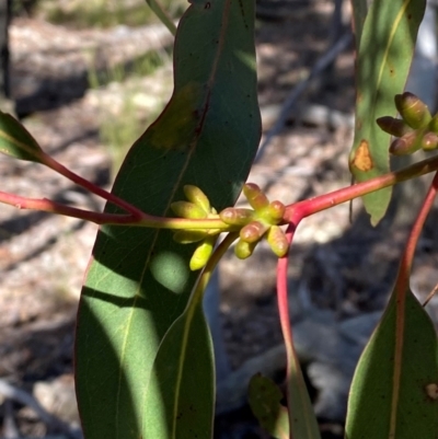
[[[164,9],[154,0],[148,3],[173,30]],[[435,158],[382,175],[389,171],[389,152],[438,146],[438,117],[416,96],[401,94],[425,1],[374,1],[368,14],[365,0],[354,7],[357,106],[349,164],[365,184],[291,206],[269,203],[258,186],[244,184],[261,132],[254,1],[191,2],[176,33],[172,97],[135,141],[112,194],[48,158],[18,120],[0,113],[1,152],[47,164],[112,201],[101,213],[0,192],[2,203],[104,224],[78,314],[77,393],[87,439],[211,437],[215,373],[203,292],[234,240],[235,254],[245,258],[263,238],[279,257],[288,407],[280,404],[280,391],[260,376],[251,381],[250,404],[278,439],[320,437],[288,316],[287,254],[295,230],[303,218],[358,196],[365,196],[377,223],[391,185],[438,170]],[[393,117],[395,108],[401,119]],[[388,148],[390,136],[397,139]],[[346,439],[436,438],[437,336],[405,272],[437,187],[438,174],[406,245],[404,272],[357,367]],[[242,188],[252,209],[231,207]],[[215,251],[221,230],[230,233]]]

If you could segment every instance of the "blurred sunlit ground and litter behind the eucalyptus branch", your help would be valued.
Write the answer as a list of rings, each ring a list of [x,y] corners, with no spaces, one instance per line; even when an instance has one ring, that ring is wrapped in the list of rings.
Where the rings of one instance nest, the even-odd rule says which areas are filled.
[[[0,1],[5,10],[7,0]],[[185,0],[161,3],[175,21],[188,7]],[[256,11],[264,137],[249,181],[286,204],[350,184],[349,2],[260,0]],[[434,43],[435,34],[427,38]],[[141,0],[13,0],[1,109],[15,113],[62,164],[111,188],[128,148],[172,93],[172,43]],[[435,109],[435,54],[431,59],[427,95]],[[3,192],[103,207],[35,163],[0,157],[0,178]],[[422,186],[397,195],[376,229],[356,201],[353,222],[345,205],[298,230],[289,270],[291,314],[325,439],[343,435],[354,365],[388,300]],[[434,211],[413,273],[419,298],[438,282],[435,223]],[[74,317],[96,231],[80,220],[0,206],[0,438],[80,437]],[[219,314],[229,370],[218,383],[215,438],[268,438],[237,383],[257,371],[283,380],[275,265],[263,244],[250,262],[230,253],[221,263]],[[437,307],[433,300],[435,322]],[[35,401],[45,412],[35,413]]]

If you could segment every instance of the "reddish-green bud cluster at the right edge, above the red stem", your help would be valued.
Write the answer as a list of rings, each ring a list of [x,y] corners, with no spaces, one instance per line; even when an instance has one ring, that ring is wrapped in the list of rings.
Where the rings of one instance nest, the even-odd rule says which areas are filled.
[[[394,101],[402,118],[383,116],[376,120],[383,131],[396,137],[390,152],[406,155],[419,149],[438,149],[438,114],[433,117],[427,105],[410,92],[396,94]]]

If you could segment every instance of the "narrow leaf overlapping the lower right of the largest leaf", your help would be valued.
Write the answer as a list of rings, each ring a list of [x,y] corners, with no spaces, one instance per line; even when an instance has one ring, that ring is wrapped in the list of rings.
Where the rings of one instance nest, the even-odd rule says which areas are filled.
[[[198,301],[170,327],[143,404],[151,438],[210,438],[215,411],[212,344]]]

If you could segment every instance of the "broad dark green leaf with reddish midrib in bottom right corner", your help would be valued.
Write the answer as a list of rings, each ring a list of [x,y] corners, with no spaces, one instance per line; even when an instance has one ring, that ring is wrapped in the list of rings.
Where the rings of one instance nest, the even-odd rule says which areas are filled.
[[[356,369],[346,439],[436,439],[438,344],[411,291],[395,291]]]

